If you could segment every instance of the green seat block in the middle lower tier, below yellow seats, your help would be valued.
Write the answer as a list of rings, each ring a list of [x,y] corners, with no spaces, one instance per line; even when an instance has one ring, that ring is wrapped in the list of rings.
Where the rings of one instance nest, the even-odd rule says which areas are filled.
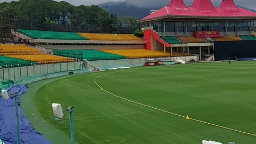
[[[62,50],[65,51],[65,50]],[[59,50],[53,50],[54,55],[63,55],[63,52]],[[83,52],[83,59],[93,61],[93,60],[117,60],[117,59],[128,59],[122,55],[116,55],[111,53],[106,53],[98,50],[66,50],[69,52]],[[66,57],[69,57],[68,55]]]

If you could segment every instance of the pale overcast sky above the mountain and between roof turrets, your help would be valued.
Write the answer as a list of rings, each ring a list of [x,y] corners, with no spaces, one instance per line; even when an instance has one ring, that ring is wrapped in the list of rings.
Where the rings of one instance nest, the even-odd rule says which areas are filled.
[[[0,2],[10,2],[12,0],[0,0]],[[17,1],[17,0],[16,0]],[[60,0],[57,0],[60,1]],[[62,0],[61,0],[62,1]],[[125,1],[125,0],[63,0],[69,2],[73,5],[98,5],[101,3],[113,1]],[[129,4],[137,5],[139,7],[151,7],[151,6],[162,6],[168,5],[170,0],[126,0]],[[191,5],[193,0],[184,0],[187,5]],[[215,5],[220,5],[221,0],[211,0]],[[256,1],[255,0],[234,0],[236,5],[245,6],[249,9],[256,10]]]

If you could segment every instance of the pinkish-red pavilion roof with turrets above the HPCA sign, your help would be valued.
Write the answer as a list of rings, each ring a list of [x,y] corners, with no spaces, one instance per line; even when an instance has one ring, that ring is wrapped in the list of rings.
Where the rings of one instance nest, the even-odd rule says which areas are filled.
[[[222,0],[220,7],[214,7],[211,0],[194,0],[187,7],[183,0],[171,0],[169,6],[148,15],[138,22],[161,19],[256,19],[256,13],[237,7],[233,0]]]

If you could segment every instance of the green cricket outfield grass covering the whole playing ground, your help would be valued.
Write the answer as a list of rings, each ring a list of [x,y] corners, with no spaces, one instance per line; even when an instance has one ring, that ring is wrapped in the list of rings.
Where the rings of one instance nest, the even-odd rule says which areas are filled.
[[[74,106],[76,141],[82,144],[200,144],[202,140],[253,144],[255,136],[187,120],[106,91],[143,105],[256,134],[255,72],[256,62],[103,71],[47,84],[38,90],[34,101],[46,122],[67,135],[69,115],[65,113],[66,124],[53,120],[51,104]],[[95,77],[103,90],[94,83]]]

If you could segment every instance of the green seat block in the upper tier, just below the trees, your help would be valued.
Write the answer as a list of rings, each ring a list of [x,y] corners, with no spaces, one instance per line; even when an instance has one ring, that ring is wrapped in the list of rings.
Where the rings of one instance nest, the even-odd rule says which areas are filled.
[[[38,39],[70,39],[70,40],[88,40],[76,33],[57,32],[57,31],[39,31],[39,30],[23,30],[18,29],[21,34],[27,35],[31,38]]]

